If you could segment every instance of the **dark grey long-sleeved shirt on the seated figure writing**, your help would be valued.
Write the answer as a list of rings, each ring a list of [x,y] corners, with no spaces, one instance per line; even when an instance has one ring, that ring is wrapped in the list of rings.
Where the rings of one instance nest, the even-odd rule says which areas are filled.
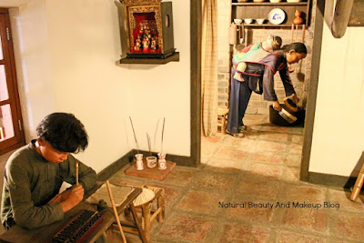
[[[35,150],[35,140],[18,149],[5,165],[1,221],[37,228],[64,218],[60,203],[47,202],[56,196],[63,181],[76,184],[76,161],[72,155],[62,163],[51,163]],[[96,172],[79,162],[79,183],[85,190],[96,183]]]

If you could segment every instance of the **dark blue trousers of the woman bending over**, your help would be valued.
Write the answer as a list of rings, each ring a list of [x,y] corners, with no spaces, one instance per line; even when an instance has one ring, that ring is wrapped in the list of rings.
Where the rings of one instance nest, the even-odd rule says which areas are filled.
[[[239,133],[239,127],[244,125],[243,117],[252,91],[248,86],[248,76],[243,76],[246,81],[241,82],[234,79],[235,72],[236,70],[234,69],[231,77],[230,101],[227,115],[227,131],[231,133]]]

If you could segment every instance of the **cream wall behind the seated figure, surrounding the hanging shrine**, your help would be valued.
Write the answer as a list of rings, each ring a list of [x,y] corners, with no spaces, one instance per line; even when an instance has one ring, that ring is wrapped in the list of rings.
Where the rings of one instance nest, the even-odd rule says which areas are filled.
[[[129,116],[139,148],[145,150],[147,132],[154,141],[159,121],[159,138],[152,145],[156,151],[160,121],[166,117],[164,151],[189,156],[189,1],[172,3],[180,61],[163,66],[116,66],[121,44],[113,0],[32,0],[23,5],[14,14],[13,32],[19,36],[15,58],[23,76],[27,140],[34,137],[31,125],[43,116],[74,113],[90,137],[89,147],[76,157],[98,172],[136,147]],[[44,54],[41,61],[26,58],[34,53]],[[32,101],[35,97],[41,102]]]

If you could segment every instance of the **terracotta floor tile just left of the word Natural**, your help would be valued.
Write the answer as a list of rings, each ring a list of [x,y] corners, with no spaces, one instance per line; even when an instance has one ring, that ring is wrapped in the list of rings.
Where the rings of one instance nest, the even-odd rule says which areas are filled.
[[[219,202],[224,202],[226,196],[203,191],[188,191],[177,208],[182,210],[216,215],[219,212]]]

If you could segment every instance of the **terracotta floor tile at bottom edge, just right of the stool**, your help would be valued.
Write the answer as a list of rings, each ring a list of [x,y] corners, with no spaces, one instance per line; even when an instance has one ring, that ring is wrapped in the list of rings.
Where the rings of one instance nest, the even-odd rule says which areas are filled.
[[[184,239],[203,242],[212,223],[207,219],[176,214],[163,224],[159,235],[168,239]]]

